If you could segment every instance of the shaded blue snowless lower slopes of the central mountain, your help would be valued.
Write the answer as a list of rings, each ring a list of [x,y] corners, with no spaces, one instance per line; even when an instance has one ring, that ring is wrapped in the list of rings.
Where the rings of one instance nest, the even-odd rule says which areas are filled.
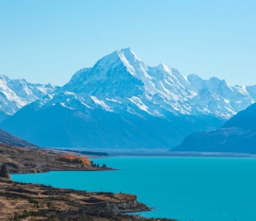
[[[29,114],[27,114],[29,113]],[[27,122],[23,122],[26,119]],[[50,122],[47,119],[52,119]],[[209,124],[207,122],[212,122]],[[6,123],[6,124],[5,124]],[[16,127],[9,125],[16,124]],[[141,116],[126,110],[122,115],[100,108],[70,110],[60,104],[35,110],[31,105],[19,110],[2,126],[40,146],[90,148],[166,148],[182,139],[182,134],[215,127],[213,116]],[[23,127],[23,130],[19,128]]]

